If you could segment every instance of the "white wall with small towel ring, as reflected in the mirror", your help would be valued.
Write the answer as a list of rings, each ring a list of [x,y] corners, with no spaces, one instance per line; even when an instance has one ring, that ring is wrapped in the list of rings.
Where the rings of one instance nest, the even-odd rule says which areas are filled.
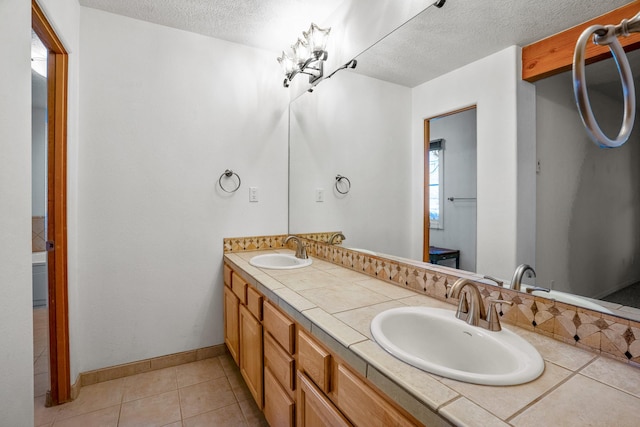
[[[290,232],[341,230],[344,246],[408,256],[410,119],[409,88],[351,71],[296,99]],[[337,174],[351,181],[346,195],[335,190]],[[324,202],[316,202],[318,188]]]

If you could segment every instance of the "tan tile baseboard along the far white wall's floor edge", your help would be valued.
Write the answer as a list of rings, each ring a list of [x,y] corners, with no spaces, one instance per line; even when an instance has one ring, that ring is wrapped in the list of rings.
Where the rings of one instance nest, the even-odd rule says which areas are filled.
[[[81,372],[76,378],[76,382],[71,386],[71,399],[77,398],[80,394],[80,389],[88,385],[124,378],[144,372],[156,371],[158,369],[170,368],[172,366],[196,362],[198,360],[218,357],[226,354],[227,352],[227,347],[224,344],[219,344],[211,347],[203,347],[195,350],[183,351],[181,353],[173,353],[166,356],[139,360],[137,362],[125,363],[123,365]]]

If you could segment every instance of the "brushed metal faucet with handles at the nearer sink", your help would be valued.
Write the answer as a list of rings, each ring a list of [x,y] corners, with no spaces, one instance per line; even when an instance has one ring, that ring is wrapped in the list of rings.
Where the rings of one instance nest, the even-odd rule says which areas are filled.
[[[464,288],[468,288],[470,300],[467,300],[467,294],[462,292]],[[469,279],[462,278],[456,280],[451,286],[449,296],[460,299],[458,310],[456,311],[458,319],[464,320],[471,326],[479,326],[489,331],[500,331],[502,329],[500,318],[496,311],[496,304],[513,304],[511,301],[489,299],[489,311],[487,312],[484,309],[484,302],[478,286]]]

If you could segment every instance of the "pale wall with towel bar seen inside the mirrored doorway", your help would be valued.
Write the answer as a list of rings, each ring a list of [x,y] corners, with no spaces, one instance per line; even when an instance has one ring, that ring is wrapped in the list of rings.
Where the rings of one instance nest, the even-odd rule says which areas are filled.
[[[442,138],[444,142],[442,167],[443,225],[444,228],[429,230],[429,245],[460,251],[460,268],[476,271],[476,200],[454,200],[476,198],[477,136],[476,110],[471,109],[451,114],[429,122],[429,136]],[[441,262],[455,267],[455,262]]]

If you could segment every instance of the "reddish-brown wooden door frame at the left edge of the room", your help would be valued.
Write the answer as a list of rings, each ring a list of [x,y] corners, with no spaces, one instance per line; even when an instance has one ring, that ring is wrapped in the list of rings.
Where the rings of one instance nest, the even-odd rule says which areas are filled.
[[[31,26],[48,50],[47,57],[47,253],[49,372],[47,406],[71,400],[67,293],[67,89],[69,57],[35,0]]]

